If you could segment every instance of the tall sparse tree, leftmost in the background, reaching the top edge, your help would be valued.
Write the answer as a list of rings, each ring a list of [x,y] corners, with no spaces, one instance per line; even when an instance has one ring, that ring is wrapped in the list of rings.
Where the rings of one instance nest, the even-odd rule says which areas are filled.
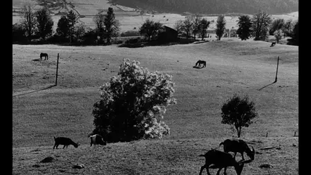
[[[28,40],[31,40],[32,33],[36,27],[35,21],[35,2],[30,0],[24,0],[21,8],[23,17],[21,19],[21,24],[27,31]]]

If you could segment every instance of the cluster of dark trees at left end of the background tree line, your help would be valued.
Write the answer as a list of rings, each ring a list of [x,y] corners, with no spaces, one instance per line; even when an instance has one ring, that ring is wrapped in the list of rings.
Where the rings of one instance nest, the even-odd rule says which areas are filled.
[[[109,8],[106,15],[103,12],[95,15],[95,29],[86,28],[79,21],[79,15],[70,10],[59,19],[56,31],[53,30],[50,10],[46,6],[37,11],[34,8],[33,1],[23,4],[21,22],[12,27],[13,42],[31,42],[35,39],[48,43],[111,44],[111,38],[119,35],[120,23],[115,19],[113,8]]]

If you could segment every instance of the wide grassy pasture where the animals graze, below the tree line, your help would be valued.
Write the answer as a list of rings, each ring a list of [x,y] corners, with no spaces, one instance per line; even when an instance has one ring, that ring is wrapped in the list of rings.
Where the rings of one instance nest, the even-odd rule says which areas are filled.
[[[242,139],[259,154],[242,174],[298,174],[297,46],[222,39],[144,48],[13,45],[12,52],[13,95],[26,93],[12,98],[13,174],[198,174],[205,163],[198,155],[223,150],[219,143],[236,136],[220,124],[221,106],[234,93],[249,95],[258,111],[254,123],[242,129]],[[32,61],[40,53],[48,53],[48,61]],[[37,91],[54,84],[57,53],[57,86]],[[278,81],[271,84],[278,56]],[[117,75],[124,58],[173,75],[177,104],[164,116],[171,134],[90,147],[87,135],[93,130],[91,112],[100,99],[99,87]],[[207,62],[206,68],[192,67],[198,59]],[[81,146],[53,150],[53,136],[70,137]],[[281,149],[260,150],[268,146]],[[47,156],[55,160],[39,163]],[[73,169],[76,163],[85,168]],[[259,167],[264,163],[273,167]],[[236,174],[233,167],[227,173]]]

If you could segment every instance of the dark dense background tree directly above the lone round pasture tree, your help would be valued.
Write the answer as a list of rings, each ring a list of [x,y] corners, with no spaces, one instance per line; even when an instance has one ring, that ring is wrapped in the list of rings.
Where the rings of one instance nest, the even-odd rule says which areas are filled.
[[[249,39],[252,33],[252,21],[248,15],[242,15],[238,17],[238,30],[236,30],[236,34],[242,40]]]

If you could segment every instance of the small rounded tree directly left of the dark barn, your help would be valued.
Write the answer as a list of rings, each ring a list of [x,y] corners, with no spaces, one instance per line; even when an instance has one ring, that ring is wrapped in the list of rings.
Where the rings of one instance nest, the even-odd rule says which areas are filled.
[[[160,22],[154,22],[150,19],[146,19],[144,24],[140,27],[140,35],[144,35],[150,41],[150,38],[156,37],[158,32],[162,28],[162,24]]]

